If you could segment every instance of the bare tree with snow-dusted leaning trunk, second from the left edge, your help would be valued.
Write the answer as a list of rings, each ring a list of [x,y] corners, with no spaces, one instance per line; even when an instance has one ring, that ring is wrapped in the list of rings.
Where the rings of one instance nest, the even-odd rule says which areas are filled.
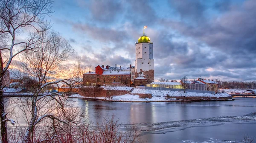
[[[29,106],[28,127],[26,129],[23,143],[33,142],[36,125],[46,118],[61,121],[51,112],[42,112],[43,101],[55,101],[54,107],[64,111],[63,99],[54,97],[51,93],[40,97],[43,89],[49,85],[64,83],[69,84],[70,79],[65,79],[68,70],[63,62],[73,53],[71,45],[63,39],[59,33],[53,31],[35,32],[38,42],[34,46],[34,50],[21,53],[19,68],[23,77],[27,77],[26,84],[29,84],[33,97],[26,106]],[[24,107],[24,105],[22,105]],[[51,109],[52,110],[52,109]],[[50,110],[50,111],[51,111]],[[25,111],[24,111],[25,112]]]

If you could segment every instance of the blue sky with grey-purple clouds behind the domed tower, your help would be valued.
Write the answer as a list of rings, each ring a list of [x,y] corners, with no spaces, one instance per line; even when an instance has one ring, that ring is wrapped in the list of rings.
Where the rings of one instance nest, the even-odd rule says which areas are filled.
[[[48,19],[92,67],[135,65],[135,42],[147,25],[155,80],[251,81],[255,7],[255,0],[54,0]]]

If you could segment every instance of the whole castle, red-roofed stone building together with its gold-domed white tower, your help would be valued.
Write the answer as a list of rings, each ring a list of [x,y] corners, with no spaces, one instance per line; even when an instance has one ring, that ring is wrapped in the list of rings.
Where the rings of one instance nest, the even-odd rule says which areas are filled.
[[[145,29],[145,27],[144,27]],[[135,66],[130,64],[129,67],[107,65],[98,65],[95,71],[84,73],[83,84],[92,85],[125,85],[137,86],[150,84],[154,82],[154,59],[153,59],[153,42],[145,35],[140,36],[135,44]]]

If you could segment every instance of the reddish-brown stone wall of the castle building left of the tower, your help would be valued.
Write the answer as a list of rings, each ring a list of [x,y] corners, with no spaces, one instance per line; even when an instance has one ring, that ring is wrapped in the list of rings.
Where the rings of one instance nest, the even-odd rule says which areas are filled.
[[[85,86],[92,86],[93,84],[111,84],[112,82],[119,82],[130,86],[131,75],[98,75],[98,74],[84,74],[83,84]]]

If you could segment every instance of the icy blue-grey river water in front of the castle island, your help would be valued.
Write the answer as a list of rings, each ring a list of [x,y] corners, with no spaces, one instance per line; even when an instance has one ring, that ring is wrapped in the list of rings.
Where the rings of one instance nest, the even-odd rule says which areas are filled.
[[[72,104],[93,122],[115,115],[119,123],[136,124],[147,143],[235,143],[243,134],[256,137],[256,98],[234,99],[124,103],[72,98]]]

